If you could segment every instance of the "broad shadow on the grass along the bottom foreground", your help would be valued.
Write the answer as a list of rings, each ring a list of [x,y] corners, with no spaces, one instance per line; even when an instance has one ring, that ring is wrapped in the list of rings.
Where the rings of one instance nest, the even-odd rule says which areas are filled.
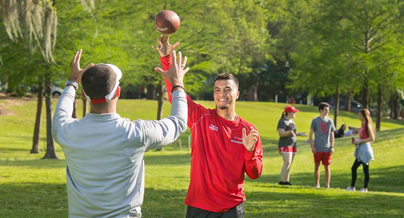
[[[400,217],[404,197],[340,193],[326,189],[247,191],[245,217]],[[184,217],[186,189],[146,188],[144,217]],[[0,186],[1,217],[67,216],[65,184],[8,183]]]

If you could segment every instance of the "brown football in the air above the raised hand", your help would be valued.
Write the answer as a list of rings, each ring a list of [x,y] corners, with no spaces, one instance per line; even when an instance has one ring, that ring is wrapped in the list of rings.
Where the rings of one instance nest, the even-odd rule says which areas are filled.
[[[172,34],[180,27],[180,17],[173,11],[161,11],[156,15],[155,26],[163,34]]]

